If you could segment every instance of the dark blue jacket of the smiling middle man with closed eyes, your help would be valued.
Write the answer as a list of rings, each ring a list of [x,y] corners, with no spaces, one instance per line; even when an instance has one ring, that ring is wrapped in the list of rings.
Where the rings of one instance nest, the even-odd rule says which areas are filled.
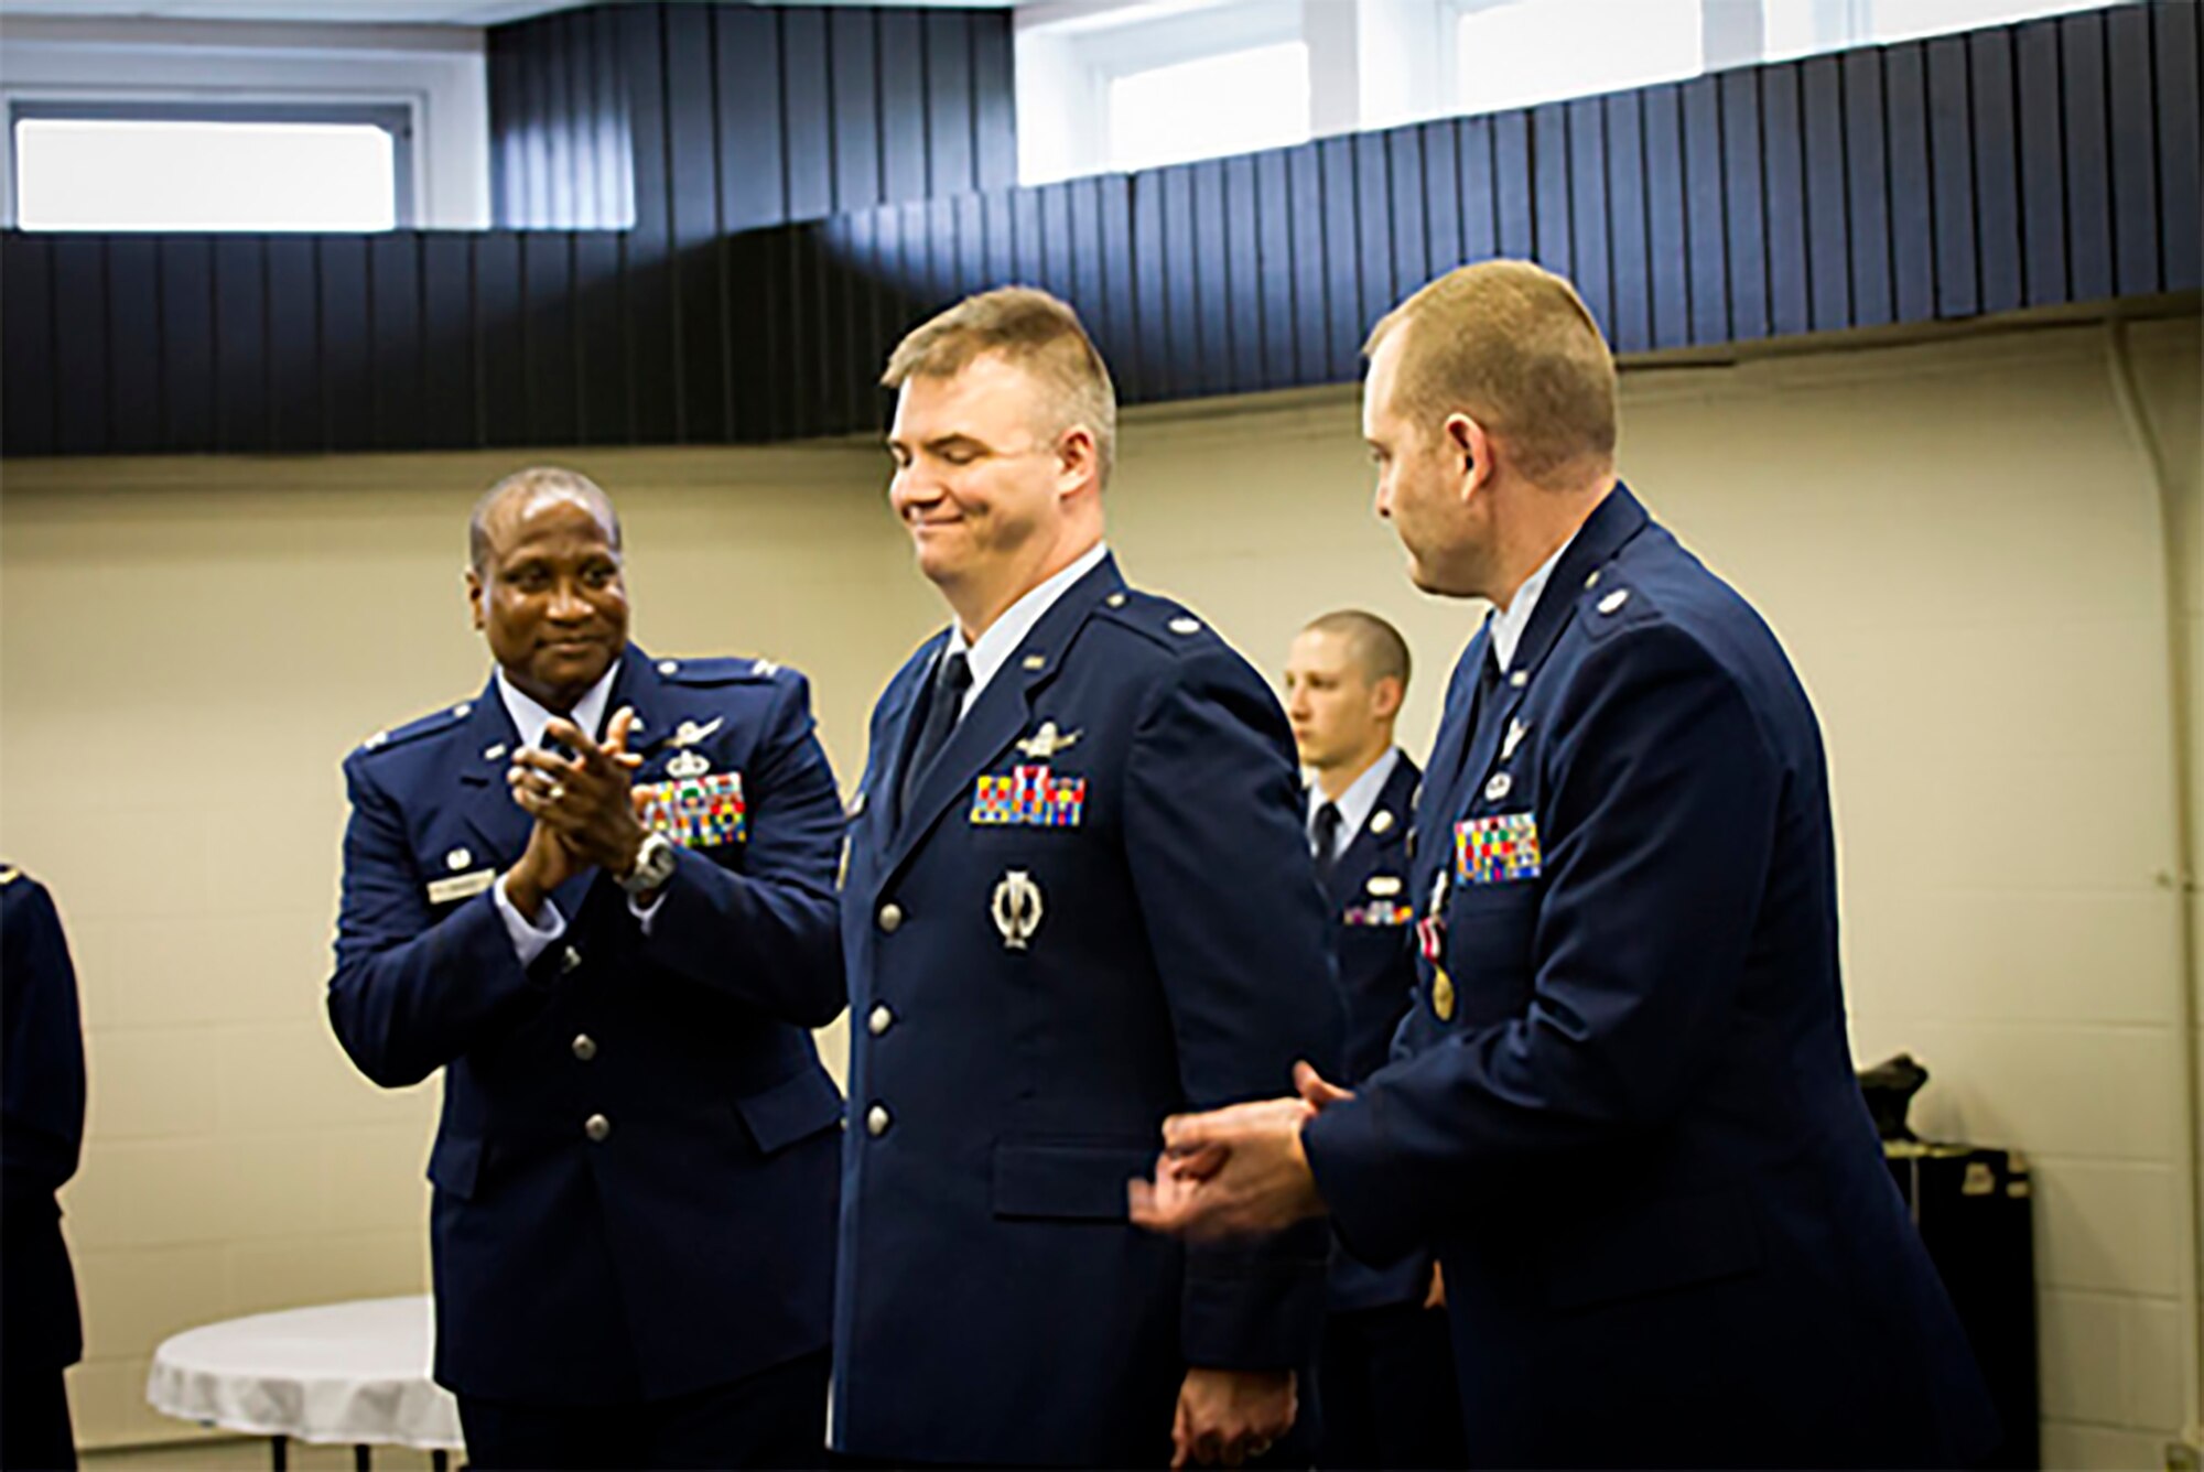
[[[1188,1364],[1303,1366],[1322,1322],[1322,1223],[1188,1252],[1126,1221],[1166,1115],[1274,1097],[1296,1058],[1338,1056],[1292,738],[1239,654],[1104,560],[974,699],[897,829],[946,639],[873,712],[851,824],[833,1443],[1157,1463]],[[1020,767],[1084,782],[1078,822],[974,822],[981,778]],[[998,897],[1012,937],[1031,923],[1023,950]]]

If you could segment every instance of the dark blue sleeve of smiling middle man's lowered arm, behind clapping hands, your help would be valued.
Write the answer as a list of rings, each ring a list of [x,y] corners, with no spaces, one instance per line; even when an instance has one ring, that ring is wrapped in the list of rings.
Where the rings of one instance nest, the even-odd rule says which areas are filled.
[[[1126,857],[1164,978],[1190,1111],[1336,1075],[1344,1009],[1300,831],[1276,699],[1221,646],[1188,654],[1133,736]],[[1181,1349],[1203,1368],[1294,1368],[1316,1353],[1329,1227],[1190,1247]]]

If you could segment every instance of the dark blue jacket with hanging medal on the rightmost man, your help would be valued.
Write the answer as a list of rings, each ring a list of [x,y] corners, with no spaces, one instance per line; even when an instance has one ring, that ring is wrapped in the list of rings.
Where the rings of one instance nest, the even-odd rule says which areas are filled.
[[[1470,725],[1488,659],[1417,813],[1452,1005],[1424,965],[1408,1058],[1305,1133],[1347,1243],[1437,1245],[1472,1465],[1979,1457],[1854,1082],[1829,778],[1774,635],[1618,487]]]

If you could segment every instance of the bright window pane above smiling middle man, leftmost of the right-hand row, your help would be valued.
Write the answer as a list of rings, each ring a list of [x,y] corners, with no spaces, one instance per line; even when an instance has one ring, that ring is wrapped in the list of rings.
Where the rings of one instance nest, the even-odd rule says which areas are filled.
[[[1309,139],[1309,48],[1252,46],[1122,73],[1109,84],[1109,163],[1148,170]]]

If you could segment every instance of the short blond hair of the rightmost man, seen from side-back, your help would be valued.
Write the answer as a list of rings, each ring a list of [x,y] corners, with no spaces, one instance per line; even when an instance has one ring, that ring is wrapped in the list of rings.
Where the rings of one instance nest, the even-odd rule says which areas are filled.
[[[1457,267],[1380,317],[1362,355],[1393,333],[1395,403],[1426,430],[1468,414],[1534,483],[1613,463],[1616,359],[1560,275],[1527,260]]]

